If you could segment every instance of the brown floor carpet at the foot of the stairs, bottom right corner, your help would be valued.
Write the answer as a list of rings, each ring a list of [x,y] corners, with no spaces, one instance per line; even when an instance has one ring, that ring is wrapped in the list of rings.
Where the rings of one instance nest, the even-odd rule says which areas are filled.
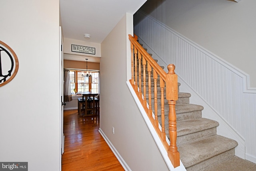
[[[214,165],[214,167],[206,168],[205,171],[256,171],[256,164],[233,156]]]

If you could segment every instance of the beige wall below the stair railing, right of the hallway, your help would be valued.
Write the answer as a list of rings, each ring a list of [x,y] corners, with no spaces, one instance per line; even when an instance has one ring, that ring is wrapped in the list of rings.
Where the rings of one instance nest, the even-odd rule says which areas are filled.
[[[126,42],[132,27],[132,15],[127,14],[101,44],[100,128],[131,170],[166,171],[168,167],[126,85],[130,71],[126,66],[130,44]]]

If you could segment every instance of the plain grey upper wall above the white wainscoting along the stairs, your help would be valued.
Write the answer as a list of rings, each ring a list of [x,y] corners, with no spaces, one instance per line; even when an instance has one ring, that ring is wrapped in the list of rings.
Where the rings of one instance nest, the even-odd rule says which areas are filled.
[[[256,1],[148,0],[142,10],[250,75],[256,87]]]

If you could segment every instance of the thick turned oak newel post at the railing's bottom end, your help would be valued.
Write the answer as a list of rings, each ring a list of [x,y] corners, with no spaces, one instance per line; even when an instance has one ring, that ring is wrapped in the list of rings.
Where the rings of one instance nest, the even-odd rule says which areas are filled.
[[[180,165],[180,153],[176,145],[177,140],[177,122],[175,105],[178,100],[178,77],[174,72],[175,65],[168,65],[168,73],[166,75],[166,99],[169,104],[169,135],[170,146],[168,149],[168,157],[170,158],[172,165],[178,167]]]

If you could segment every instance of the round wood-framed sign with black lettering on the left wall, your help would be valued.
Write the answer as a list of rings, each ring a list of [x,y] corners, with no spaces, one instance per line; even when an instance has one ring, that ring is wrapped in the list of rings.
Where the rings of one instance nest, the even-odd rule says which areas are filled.
[[[16,76],[19,61],[16,53],[0,41],[0,86],[6,85]]]

